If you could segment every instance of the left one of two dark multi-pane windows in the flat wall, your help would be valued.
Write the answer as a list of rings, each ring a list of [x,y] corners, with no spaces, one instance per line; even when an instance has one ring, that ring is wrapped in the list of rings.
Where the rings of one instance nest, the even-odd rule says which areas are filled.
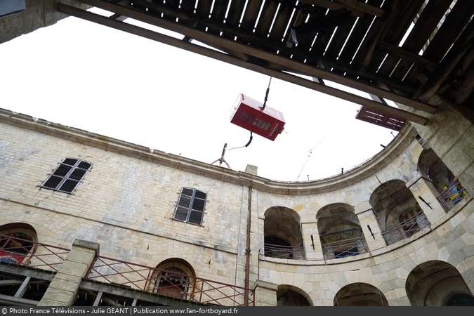
[[[77,185],[82,182],[87,171],[90,171],[92,164],[81,159],[66,158],[49,175],[48,179],[41,185],[45,189],[59,192],[72,193]]]

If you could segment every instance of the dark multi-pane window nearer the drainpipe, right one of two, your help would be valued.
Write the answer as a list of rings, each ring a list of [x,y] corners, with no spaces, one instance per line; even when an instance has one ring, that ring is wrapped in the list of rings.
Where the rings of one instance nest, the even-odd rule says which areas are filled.
[[[206,206],[206,193],[183,187],[181,189],[178,203],[173,214],[176,220],[182,220],[185,223],[201,225],[204,217],[204,208]]]

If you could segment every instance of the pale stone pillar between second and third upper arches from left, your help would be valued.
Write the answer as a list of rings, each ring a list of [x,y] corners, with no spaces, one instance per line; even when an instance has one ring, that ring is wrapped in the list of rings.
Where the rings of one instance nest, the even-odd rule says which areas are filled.
[[[363,202],[354,207],[355,215],[359,219],[360,227],[362,232],[364,232],[364,237],[369,246],[369,251],[374,251],[376,249],[383,248],[386,246],[385,239],[383,239],[380,227],[378,226],[377,219],[374,215],[374,211],[369,204],[369,202]],[[369,227],[370,226],[370,232]],[[372,237],[374,234],[374,237]]]

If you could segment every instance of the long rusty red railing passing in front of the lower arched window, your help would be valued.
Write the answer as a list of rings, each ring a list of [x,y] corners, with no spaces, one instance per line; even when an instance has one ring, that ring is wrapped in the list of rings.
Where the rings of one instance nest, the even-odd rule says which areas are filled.
[[[164,275],[169,275],[164,277]],[[209,305],[255,305],[254,290],[209,279],[96,256],[87,279]],[[159,282],[158,279],[166,282]],[[245,302],[245,298],[248,301]]]

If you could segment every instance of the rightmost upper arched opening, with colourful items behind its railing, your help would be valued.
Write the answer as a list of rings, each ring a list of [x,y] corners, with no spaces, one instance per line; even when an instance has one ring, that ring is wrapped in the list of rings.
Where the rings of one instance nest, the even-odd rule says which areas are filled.
[[[468,195],[459,179],[431,148],[421,152],[418,169],[430,180],[428,187],[446,211],[451,210]]]

